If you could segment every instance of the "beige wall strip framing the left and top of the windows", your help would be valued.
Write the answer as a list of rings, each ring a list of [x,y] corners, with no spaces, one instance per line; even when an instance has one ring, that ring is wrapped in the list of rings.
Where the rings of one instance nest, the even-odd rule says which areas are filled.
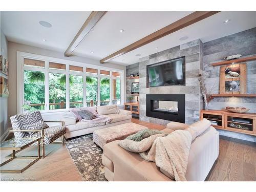
[[[10,79],[9,80],[9,102],[8,102],[8,108],[9,108],[8,117],[9,118],[10,118],[10,116],[17,114],[17,78],[16,78],[17,51],[33,53],[33,54],[38,54],[38,55],[44,55],[44,56],[49,56],[49,57],[55,57],[55,58],[60,58],[60,59],[66,59],[66,60],[72,60],[72,61],[77,61],[77,62],[83,62],[83,63],[92,64],[95,66],[104,65],[105,67],[124,70],[124,74],[126,74],[125,66],[116,65],[116,64],[108,63],[108,62],[101,64],[101,63],[99,63],[98,60],[90,59],[90,58],[86,58],[86,57],[78,57],[78,56],[65,57],[64,53],[61,53],[61,52],[32,47],[32,46],[23,45],[23,44],[17,44],[15,42],[9,41],[8,42],[9,79]],[[126,93],[125,83],[126,83],[126,78],[124,78],[124,84],[123,84],[124,93]],[[124,95],[124,98],[126,98],[126,95]],[[9,122],[9,125],[10,125],[10,122]]]

